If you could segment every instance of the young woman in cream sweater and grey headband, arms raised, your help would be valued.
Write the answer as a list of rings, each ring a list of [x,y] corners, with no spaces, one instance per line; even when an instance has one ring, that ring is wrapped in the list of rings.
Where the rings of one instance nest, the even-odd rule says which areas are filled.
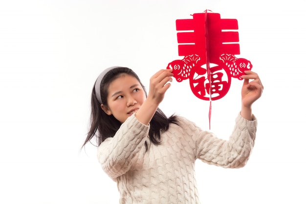
[[[130,68],[107,68],[95,82],[83,146],[97,139],[99,162],[117,182],[120,204],[199,204],[196,159],[240,168],[250,157],[257,128],[251,106],[263,90],[259,76],[245,71],[241,112],[228,140],[158,108],[172,76],[171,69],[155,73],[149,94]]]

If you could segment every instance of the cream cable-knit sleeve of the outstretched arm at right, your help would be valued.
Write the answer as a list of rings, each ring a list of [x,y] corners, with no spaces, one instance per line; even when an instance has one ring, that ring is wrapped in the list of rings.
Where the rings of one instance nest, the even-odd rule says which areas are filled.
[[[240,168],[249,159],[255,141],[257,119],[248,121],[240,114],[232,135],[228,140],[220,139],[212,133],[199,134],[197,141],[197,158],[224,168]]]

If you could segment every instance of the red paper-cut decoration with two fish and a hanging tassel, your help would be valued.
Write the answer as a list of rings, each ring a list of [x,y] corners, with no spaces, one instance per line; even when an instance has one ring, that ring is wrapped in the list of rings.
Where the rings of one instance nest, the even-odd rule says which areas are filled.
[[[176,81],[189,79],[191,91],[199,99],[211,102],[226,95],[231,79],[242,80],[244,70],[250,70],[250,61],[237,58],[240,54],[238,21],[221,19],[220,14],[195,13],[193,19],[176,20],[178,55],[167,68],[173,69]]]

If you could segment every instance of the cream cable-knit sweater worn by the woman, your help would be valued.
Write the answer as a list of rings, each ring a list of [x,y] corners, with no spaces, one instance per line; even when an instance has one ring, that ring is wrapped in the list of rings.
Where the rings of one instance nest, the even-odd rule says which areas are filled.
[[[184,117],[178,119],[180,126],[170,124],[160,145],[150,144],[150,126],[134,114],[114,137],[101,143],[98,159],[117,182],[120,204],[199,204],[196,159],[224,168],[246,164],[254,145],[256,119],[248,121],[239,114],[229,140],[202,131]]]

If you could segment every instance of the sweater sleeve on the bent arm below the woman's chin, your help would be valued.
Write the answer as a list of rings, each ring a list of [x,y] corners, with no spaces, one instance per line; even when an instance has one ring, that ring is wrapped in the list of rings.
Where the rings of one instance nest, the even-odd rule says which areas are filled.
[[[129,171],[131,160],[144,146],[149,129],[150,125],[140,123],[133,114],[120,126],[115,136],[100,144],[97,157],[112,180]]]

